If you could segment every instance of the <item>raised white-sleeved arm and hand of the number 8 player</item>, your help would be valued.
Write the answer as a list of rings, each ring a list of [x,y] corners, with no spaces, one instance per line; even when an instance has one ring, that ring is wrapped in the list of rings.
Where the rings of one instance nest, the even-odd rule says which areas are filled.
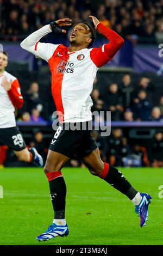
[[[55,34],[66,33],[65,29],[60,28],[65,26],[71,26],[69,18],[53,21],[49,25],[43,26],[30,34],[20,45],[24,50],[33,53],[37,58],[45,59],[48,62],[48,59],[52,56],[58,45],[41,43],[39,40],[51,32]]]

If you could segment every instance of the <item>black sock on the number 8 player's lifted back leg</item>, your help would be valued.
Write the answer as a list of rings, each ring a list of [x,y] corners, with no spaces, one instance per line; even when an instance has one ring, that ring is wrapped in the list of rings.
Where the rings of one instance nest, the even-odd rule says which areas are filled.
[[[113,166],[108,165],[109,171],[108,174],[105,176],[104,180],[108,182],[111,186],[116,188],[116,190],[120,191],[123,194],[132,200],[138,191],[135,190],[128,182],[128,180],[123,176],[120,170],[116,169]]]

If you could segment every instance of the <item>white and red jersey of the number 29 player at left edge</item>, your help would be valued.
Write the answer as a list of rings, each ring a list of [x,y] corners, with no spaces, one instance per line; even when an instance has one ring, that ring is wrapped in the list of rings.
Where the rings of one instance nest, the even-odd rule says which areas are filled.
[[[11,89],[8,92],[1,86],[4,76],[8,82],[11,81]],[[17,78],[4,71],[0,76],[0,129],[16,126],[15,107],[21,108],[22,105],[23,97]]]

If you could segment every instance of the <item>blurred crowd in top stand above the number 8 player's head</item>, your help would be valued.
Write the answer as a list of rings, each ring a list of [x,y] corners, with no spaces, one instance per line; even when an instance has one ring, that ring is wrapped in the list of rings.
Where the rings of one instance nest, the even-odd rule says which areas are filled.
[[[163,39],[162,0],[4,0],[1,5],[1,40],[23,39],[63,17],[74,23],[90,22],[91,14],[134,42],[159,43]]]

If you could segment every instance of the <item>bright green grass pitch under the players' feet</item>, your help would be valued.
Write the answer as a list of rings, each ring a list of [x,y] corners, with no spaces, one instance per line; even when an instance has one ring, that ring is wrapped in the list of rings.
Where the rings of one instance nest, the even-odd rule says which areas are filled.
[[[153,197],[143,228],[130,200],[87,169],[65,168],[67,237],[38,242],[53,220],[49,186],[41,168],[2,168],[0,245],[163,245],[161,168],[120,168],[139,191]]]

